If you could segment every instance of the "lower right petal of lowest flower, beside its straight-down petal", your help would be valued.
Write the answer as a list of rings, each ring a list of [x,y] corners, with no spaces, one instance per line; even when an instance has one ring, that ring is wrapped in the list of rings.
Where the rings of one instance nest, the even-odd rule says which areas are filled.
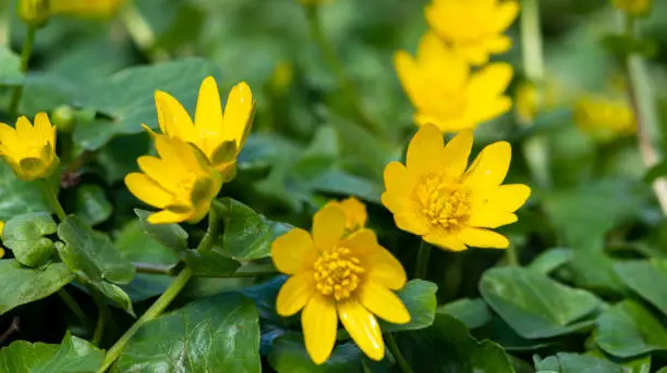
[[[355,299],[338,303],[338,314],[356,346],[373,360],[385,357],[385,341],[377,319]]]

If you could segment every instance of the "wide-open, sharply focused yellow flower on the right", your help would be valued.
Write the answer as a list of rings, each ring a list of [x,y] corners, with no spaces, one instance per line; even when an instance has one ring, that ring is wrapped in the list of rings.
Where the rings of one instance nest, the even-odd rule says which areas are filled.
[[[511,158],[506,141],[485,147],[466,171],[472,145],[471,130],[444,146],[438,128],[425,125],[410,141],[405,165],[387,165],[381,200],[399,228],[446,250],[508,247],[492,229],[517,221],[531,189],[500,185]]]

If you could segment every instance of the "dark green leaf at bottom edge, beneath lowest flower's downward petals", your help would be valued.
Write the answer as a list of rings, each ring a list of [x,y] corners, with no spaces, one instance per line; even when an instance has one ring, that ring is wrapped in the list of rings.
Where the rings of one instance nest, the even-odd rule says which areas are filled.
[[[274,341],[269,364],[278,373],[363,373],[362,353],[353,343],[336,346],[329,360],[316,365],[301,335],[286,335]]]

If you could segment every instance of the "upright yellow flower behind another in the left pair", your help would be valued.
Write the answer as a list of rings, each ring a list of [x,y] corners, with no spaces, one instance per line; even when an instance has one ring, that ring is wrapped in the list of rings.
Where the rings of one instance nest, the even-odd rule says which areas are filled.
[[[253,94],[244,82],[229,92],[225,115],[216,79],[209,76],[199,88],[194,123],[183,105],[163,91],[155,94],[162,134],[193,144],[222,174],[225,182],[237,173],[237,156],[250,134],[255,113]],[[146,125],[144,125],[153,133]],[[155,134],[154,134],[155,135]]]

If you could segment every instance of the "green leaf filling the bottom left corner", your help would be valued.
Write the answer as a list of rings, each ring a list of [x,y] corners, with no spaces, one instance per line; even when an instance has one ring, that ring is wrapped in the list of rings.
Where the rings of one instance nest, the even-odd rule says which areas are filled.
[[[95,373],[105,352],[68,334],[61,345],[17,340],[0,350],[0,373]]]

